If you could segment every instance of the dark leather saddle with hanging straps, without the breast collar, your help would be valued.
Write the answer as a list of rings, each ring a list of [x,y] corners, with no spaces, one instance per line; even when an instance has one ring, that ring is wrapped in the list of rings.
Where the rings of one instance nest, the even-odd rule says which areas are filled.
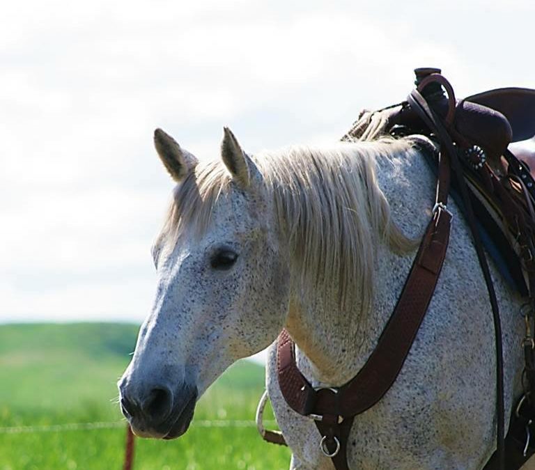
[[[439,69],[420,68],[414,72],[417,89],[442,119],[456,146],[453,150],[460,157],[460,179],[467,185],[469,203],[458,197],[460,185],[452,185],[452,198],[465,216],[473,211],[481,241],[498,269],[522,297],[529,298],[525,305],[535,308],[535,180],[526,162],[508,148],[510,143],[535,136],[535,90],[499,88],[456,100],[449,82],[437,77]],[[388,134],[414,138],[414,134],[421,134],[428,137],[424,141],[440,141],[409,101],[379,111],[364,111],[343,140],[371,140]],[[418,141],[417,135],[416,138]],[[425,145],[420,146],[425,150]],[[430,152],[424,153],[435,152],[435,157],[428,160],[437,173],[440,144],[431,147]],[[467,205],[472,207],[470,211]],[[498,450],[485,470],[520,469],[535,454],[535,442],[530,439],[530,427],[535,423],[535,343],[529,329],[534,316],[525,314],[529,339],[522,343],[525,394],[511,415],[507,436],[497,439]],[[501,336],[497,337],[498,343],[501,344]],[[503,414],[503,403],[498,404],[497,416]]]

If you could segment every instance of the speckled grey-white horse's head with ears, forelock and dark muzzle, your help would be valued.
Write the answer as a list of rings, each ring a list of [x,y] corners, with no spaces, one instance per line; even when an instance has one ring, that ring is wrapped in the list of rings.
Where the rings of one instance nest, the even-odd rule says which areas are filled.
[[[231,363],[277,337],[289,267],[263,177],[230,130],[222,164],[198,164],[161,130],[155,146],[178,185],[153,246],[153,308],[118,386],[134,432],[171,439]]]

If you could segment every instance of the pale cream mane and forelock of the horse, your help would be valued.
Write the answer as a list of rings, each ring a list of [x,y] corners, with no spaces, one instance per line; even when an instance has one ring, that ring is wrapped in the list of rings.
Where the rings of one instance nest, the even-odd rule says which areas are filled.
[[[304,281],[339,286],[344,304],[357,289],[362,307],[373,292],[374,250],[378,237],[392,249],[414,247],[390,218],[390,208],[375,176],[375,159],[412,152],[410,143],[383,139],[338,143],[329,148],[295,146],[265,150],[252,160],[273,198],[282,235]],[[218,159],[201,162],[176,188],[162,237],[194,224],[207,230],[212,208],[231,191],[231,176]]]

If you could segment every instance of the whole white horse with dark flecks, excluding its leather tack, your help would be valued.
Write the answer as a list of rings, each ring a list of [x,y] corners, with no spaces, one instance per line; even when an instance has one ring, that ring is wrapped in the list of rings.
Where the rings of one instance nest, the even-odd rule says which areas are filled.
[[[211,162],[161,130],[155,145],[178,185],[153,247],[154,305],[119,382],[134,432],[186,432],[208,386],[283,328],[309,382],[348,382],[373,351],[431,217],[435,177],[420,150],[382,139],[249,157],[227,129],[222,159]],[[481,469],[494,451],[492,315],[467,227],[450,208],[435,295],[396,382],[355,418],[351,469]],[[492,270],[511,410],[521,393],[522,300]],[[290,468],[332,469],[313,421],[281,396],[270,351],[267,389]]]

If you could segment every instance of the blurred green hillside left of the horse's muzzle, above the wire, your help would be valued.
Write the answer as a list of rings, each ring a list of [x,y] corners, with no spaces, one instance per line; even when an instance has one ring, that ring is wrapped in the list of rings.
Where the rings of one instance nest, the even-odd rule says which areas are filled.
[[[0,326],[2,425],[47,423],[51,412],[56,421],[72,422],[72,411],[82,412],[82,404],[93,418],[118,418],[111,400],[137,329],[104,323]]]

